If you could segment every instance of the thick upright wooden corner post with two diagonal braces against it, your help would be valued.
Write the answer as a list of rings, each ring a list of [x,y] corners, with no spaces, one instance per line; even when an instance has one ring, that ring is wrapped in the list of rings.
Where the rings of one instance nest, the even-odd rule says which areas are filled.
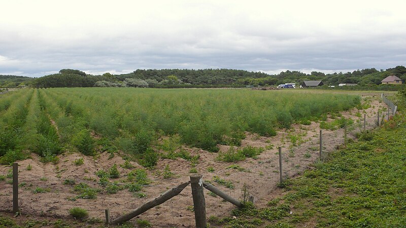
[[[203,179],[200,174],[190,175],[190,185],[192,187],[194,219],[197,228],[205,228],[206,221],[206,202],[203,194]]]

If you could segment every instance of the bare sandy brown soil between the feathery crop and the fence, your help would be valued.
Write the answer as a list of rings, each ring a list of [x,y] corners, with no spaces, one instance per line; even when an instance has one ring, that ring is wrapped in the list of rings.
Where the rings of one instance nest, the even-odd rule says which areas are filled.
[[[366,128],[368,129],[375,127],[378,108],[385,107],[376,98],[378,96],[374,98],[372,106],[365,110],[367,117]],[[363,110],[353,109],[343,112],[342,115],[346,118],[352,118],[357,123],[357,120],[363,120],[363,115],[362,118],[355,116],[357,112],[363,113]],[[362,128],[360,123],[362,121],[349,126],[348,137],[354,137],[354,133],[360,131]],[[198,148],[185,147],[185,149],[189,150],[192,155],[200,155],[196,169],[203,174],[205,180],[211,180],[213,176],[217,175],[231,181],[235,185],[234,189],[225,188],[217,183],[214,183],[214,185],[236,199],[241,198],[241,188],[246,183],[249,193],[254,196],[255,204],[258,207],[265,207],[269,200],[280,194],[277,188],[279,181],[278,146],[283,149],[284,178],[302,173],[309,168],[309,164],[319,159],[319,123],[313,122],[310,126],[294,125],[292,129],[279,131],[277,136],[269,138],[259,137],[248,132],[246,134],[247,138],[243,140],[242,146],[268,146],[268,149],[257,159],[249,158],[235,163],[248,170],[248,172],[227,169],[233,163],[216,161],[216,153],[210,153]],[[290,136],[296,135],[301,135],[302,142],[300,145],[293,146]],[[328,151],[343,144],[344,130],[323,130],[323,142],[323,151],[328,153]],[[273,145],[273,148],[270,148],[270,145]],[[228,146],[221,145],[220,149],[226,151]],[[79,158],[84,159],[84,164],[80,166],[74,165],[73,161]],[[44,164],[37,155],[32,154],[30,159],[18,162],[19,183],[25,183],[24,186],[20,187],[19,191],[20,208],[23,214],[69,218],[69,209],[82,207],[89,211],[90,217],[104,219],[105,209],[109,208],[113,218],[116,218],[159,196],[168,188],[188,181],[191,169],[190,162],[183,159],[163,159],[158,162],[155,169],[147,171],[148,177],[153,182],[144,187],[142,192],[146,194],[145,198],[138,198],[124,189],[117,194],[111,195],[107,194],[106,191],[102,191],[94,200],[77,199],[71,201],[70,199],[77,197],[78,194],[73,191],[73,186],[63,184],[64,179],[74,179],[76,183],[85,182],[93,187],[101,188],[96,182],[98,178],[95,172],[99,169],[107,170],[113,164],[123,164],[124,160],[119,156],[109,159],[107,153],[100,154],[98,158],[86,157],[76,153],[65,153],[60,156],[59,161],[56,165]],[[131,164],[135,168],[141,168],[137,163]],[[31,170],[26,169],[28,165],[31,165]],[[175,177],[163,179],[161,171],[166,165],[175,173]],[[208,172],[208,167],[213,167],[214,172]],[[0,175],[6,175],[10,168],[10,166],[0,166]],[[118,169],[122,180],[131,170],[119,166]],[[120,179],[117,180],[120,181]],[[0,211],[12,210],[12,185],[7,183],[7,180],[10,179],[0,181]],[[49,192],[34,194],[33,190],[36,187],[48,189]],[[219,197],[208,195],[208,191],[205,191],[205,197],[207,217],[211,215],[228,216],[230,211],[235,208],[230,203],[222,201]],[[149,220],[154,227],[193,227],[194,214],[192,207],[191,189],[190,186],[187,186],[180,195],[141,214],[138,218]],[[134,222],[133,220],[131,221]]]

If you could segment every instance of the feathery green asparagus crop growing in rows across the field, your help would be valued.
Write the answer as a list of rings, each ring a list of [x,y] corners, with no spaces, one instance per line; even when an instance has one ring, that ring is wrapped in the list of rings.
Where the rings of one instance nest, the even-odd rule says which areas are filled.
[[[356,95],[252,90],[133,88],[24,89],[0,99],[0,160],[31,151],[52,161],[63,150],[94,155],[96,145],[156,164],[154,145],[177,135],[182,144],[218,151],[241,144],[246,131],[274,136],[296,122],[360,104]]]

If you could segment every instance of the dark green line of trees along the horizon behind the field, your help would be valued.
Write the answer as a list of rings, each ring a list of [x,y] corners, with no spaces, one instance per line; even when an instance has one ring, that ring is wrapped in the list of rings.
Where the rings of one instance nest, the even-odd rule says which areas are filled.
[[[396,75],[406,81],[406,67],[396,66],[386,70],[367,68],[353,72],[325,74],[313,71],[310,74],[300,71],[282,71],[267,74],[237,69],[137,69],[131,73],[102,75],[86,74],[77,69],[62,69],[59,73],[33,79],[30,85],[35,88],[49,87],[245,87],[275,86],[285,83],[300,85],[303,81],[321,80],[324,85],[341,83],[358,84],[374,88],[388,75]]]

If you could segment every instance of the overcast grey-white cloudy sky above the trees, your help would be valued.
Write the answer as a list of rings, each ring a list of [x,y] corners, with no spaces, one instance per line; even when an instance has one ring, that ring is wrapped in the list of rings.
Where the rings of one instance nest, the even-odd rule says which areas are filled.
[[[404,0],[0,0],[0,9],[0,74],[406,65]]]

